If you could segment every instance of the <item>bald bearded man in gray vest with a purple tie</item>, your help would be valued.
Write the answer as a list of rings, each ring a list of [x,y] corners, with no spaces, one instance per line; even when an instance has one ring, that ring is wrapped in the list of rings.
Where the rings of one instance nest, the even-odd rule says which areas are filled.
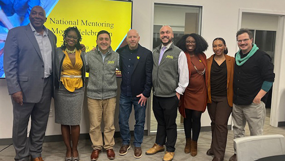
[[[177,107],[180,95],[189,83],[189,73],[185,53],[172,42],[172,28],[163,26],[159,32],[162,44],[153,50],[152,70],[152,108],[158,125],[154,146],[146,154],[164,151],[165,144],[163,161],[170,161],[174,157],[177,138]]]

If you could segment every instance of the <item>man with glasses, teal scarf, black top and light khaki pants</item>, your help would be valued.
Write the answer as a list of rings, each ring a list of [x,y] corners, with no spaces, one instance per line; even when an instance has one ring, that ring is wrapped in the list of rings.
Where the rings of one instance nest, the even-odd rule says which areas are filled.
[[[251,136],[263,134],[266,110],[261,98],[270,90],[275,77],[270,56],[252,43],[249,30],[240,29],[236,40],[240,50],[234,66],[234,139],[245,136],[246,122]],[[229,161],[236,161],[236,154]]]

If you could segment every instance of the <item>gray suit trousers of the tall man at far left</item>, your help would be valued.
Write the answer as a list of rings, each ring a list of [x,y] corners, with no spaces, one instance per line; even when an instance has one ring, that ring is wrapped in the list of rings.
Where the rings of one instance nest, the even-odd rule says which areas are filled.
[[[38,103],[13,104],[13,145],[16,151],[15,161],[28,161],[41,156],[44,133],[51,105],[52,77],[44,79],[42,98]],[[31,87],[37,88],[37,87]],[[31,131],[27,138],[27,127],[31,116]]]

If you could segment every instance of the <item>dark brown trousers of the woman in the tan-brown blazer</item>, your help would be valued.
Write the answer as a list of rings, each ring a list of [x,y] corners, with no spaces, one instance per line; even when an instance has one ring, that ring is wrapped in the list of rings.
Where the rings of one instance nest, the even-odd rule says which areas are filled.
[[[207,106],[212,120],[211,151],[215,157],[224,158],[228,134],[227,124],[232,107],[229,106],[227,97],[217,96],[212,96],[212,103]]]

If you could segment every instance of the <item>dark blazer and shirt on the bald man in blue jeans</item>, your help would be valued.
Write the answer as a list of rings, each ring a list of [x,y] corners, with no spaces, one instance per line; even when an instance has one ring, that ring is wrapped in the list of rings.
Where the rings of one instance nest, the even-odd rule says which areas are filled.
[[[129,46],[126,45],[119,48],[117,52],[120,54],[120,69],[122,71],[121,92],[126,94],[127,91],[131,91],[132,97],[136,97],[141,93],[145,97],[149,97],[152,89],[152,52],[147,48],[140,46],[140,44],[138,44],[138,49],[136,51],[130,51]],[[132,60],[133,69],[128,69],[131,68]],[[128,79],[130,83],[128,83]],[[128,88],[129,90],[126,90],[128,85],[130,88]]]

